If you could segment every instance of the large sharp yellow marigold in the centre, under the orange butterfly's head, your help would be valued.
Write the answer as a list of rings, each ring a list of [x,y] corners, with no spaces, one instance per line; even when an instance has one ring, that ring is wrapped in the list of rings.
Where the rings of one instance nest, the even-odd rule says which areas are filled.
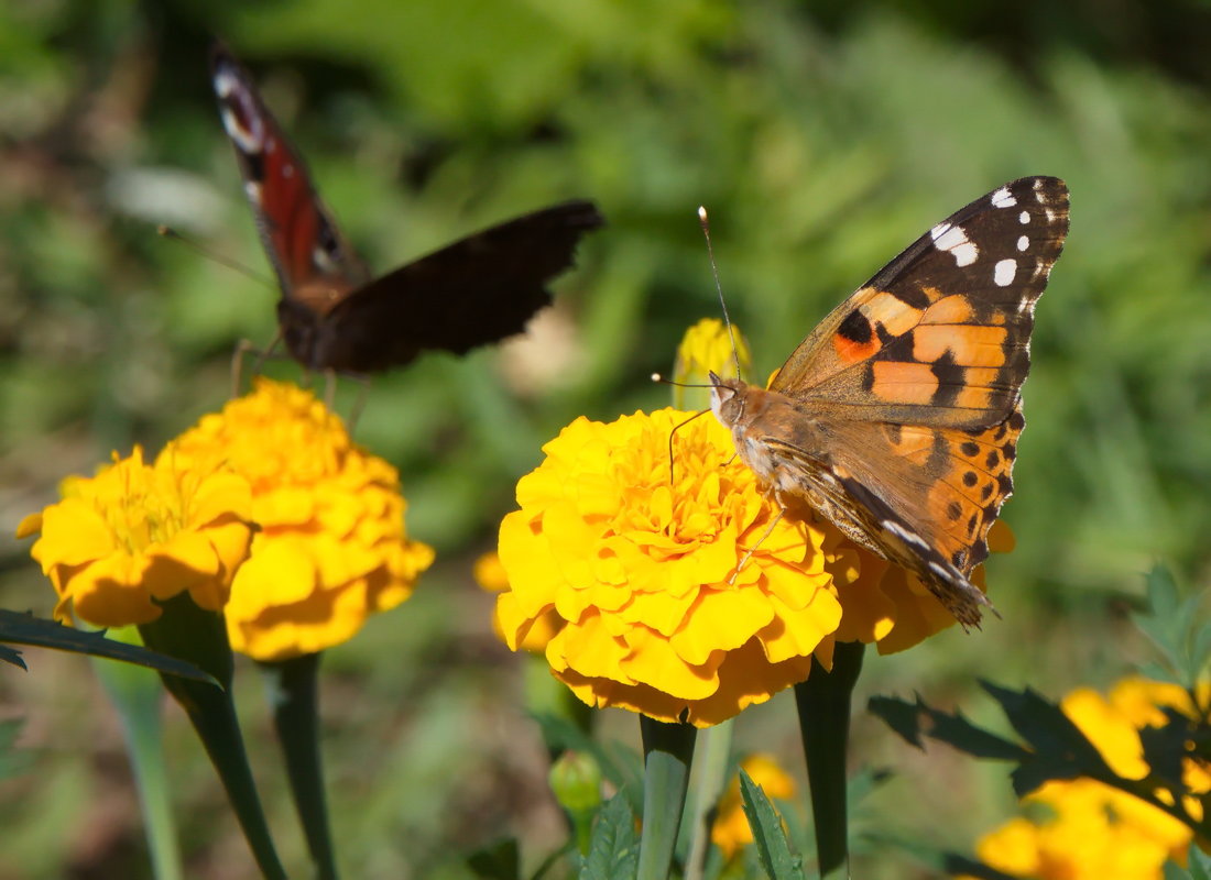
[[[831,663],[838,587],[857,571],[808,522],[762,540],[776,510],[716,420],[677,432],[670,473],[689,415],[581,418],[544,447],[500,527],[498,611],[513,650],[559,616],[547,662],[586,703],[708,726],[805,679],[814,652]]]

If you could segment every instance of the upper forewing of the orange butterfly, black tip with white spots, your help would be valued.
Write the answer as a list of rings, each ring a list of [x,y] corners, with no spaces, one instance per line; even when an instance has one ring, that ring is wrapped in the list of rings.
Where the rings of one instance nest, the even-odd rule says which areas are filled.
[[[771,390],[849,407],[853,419],[998,424],[1029,369],[1034,301],[1067,229],[1056,178],[977,199],[834,309]]]

